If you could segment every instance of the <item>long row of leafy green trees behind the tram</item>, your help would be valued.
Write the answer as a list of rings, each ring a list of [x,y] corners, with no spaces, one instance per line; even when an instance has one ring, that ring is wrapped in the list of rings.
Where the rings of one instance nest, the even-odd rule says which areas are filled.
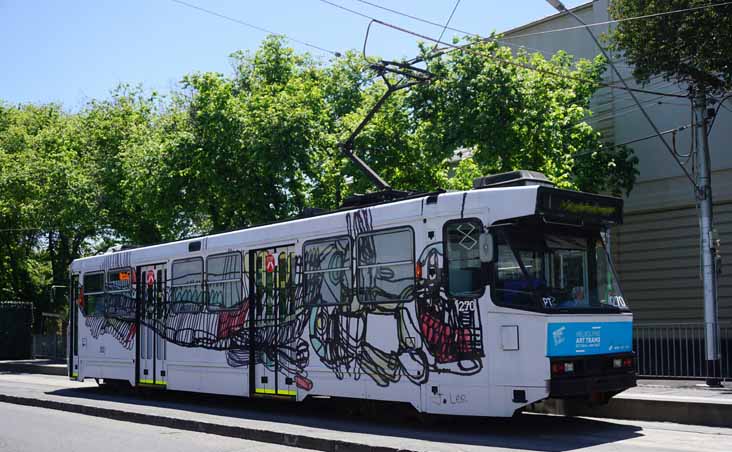
[[[630,190],[632,151],[603,149],[585,122],[602,60],[512,54],[490,40],[469,48],[428,58],[434,80],[395,93],[357,137],[384,179],[464,189],[521,168],[562,187]],[[338,150],[386,90],[367,61],[347,53],[323,64],[270,37],[231,63],[231,74],[189,74],[166,96],[122,85],[76,113],[0,104],[0,298],[62,309],[47,290],[79,256],[332,208],[373,189]],[[459,148],[472,157],[455,159]]]

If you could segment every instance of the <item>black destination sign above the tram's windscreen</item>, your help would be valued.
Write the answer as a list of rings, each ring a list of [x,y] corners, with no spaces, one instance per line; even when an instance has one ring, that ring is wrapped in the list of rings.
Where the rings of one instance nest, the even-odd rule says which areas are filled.
[[[612,196],[539,187],[536,213],[558,220],[621,224],[623,200]]]

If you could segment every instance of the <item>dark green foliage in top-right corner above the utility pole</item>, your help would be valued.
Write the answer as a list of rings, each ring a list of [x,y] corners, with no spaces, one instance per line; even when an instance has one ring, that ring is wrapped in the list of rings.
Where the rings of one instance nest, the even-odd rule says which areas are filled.
[[[613,19],[626,20],[610,33],[613,48],[633,65],[642,83],[661,74],[666,80],[687,82],[709,93],[732,89],[732,5],[699,8],[676,14],[668,11],[705,7],[723,0],[612,0]]]

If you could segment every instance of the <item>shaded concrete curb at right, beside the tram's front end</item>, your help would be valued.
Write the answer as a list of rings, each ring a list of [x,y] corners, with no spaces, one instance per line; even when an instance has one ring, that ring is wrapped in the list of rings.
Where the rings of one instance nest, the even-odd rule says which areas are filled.
[[[732,427],[732,404],[653,400],[649,398],[615,397],[607,405],[587,407],[562,400],[548,400],[537,405],[536,412],[564,416],[625,419],[706,427]]]

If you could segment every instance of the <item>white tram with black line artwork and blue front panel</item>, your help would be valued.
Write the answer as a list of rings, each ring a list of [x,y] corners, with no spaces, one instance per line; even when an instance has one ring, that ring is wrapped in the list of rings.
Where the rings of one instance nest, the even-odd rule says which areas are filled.
[[[69,376],[511,416],[635,385],[616,198],[538,173],[71,264]]]

